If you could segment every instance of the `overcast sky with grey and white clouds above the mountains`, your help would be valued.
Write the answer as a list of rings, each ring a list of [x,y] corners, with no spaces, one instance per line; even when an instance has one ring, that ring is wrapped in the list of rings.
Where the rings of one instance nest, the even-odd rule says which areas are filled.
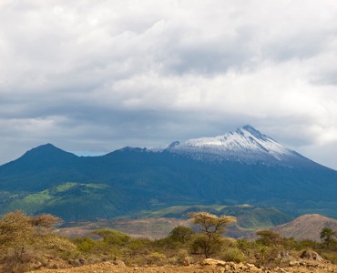
[[[335,0],[0,1],[0,164],[247,124],[337,169]]]

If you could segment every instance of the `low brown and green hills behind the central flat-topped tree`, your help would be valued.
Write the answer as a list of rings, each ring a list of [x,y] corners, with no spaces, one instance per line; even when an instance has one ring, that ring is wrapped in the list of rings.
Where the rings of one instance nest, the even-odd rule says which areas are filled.
[[[141,212],[137,217],[65,223],[57,229],[57,233],[75,238],[92,236],[90,233],[94,229],[109,227],[136,238],[164,238],[174,227],[191,227],[187,214],[198,211],[207,211],[218,216],[237,217],[237,224],[227,228],[226,236],[230,238],[253,238],[257,229],[274,227],[292,220],[289,215],[272,207],[252,207],[249,205],[175,206],[157,211]]]

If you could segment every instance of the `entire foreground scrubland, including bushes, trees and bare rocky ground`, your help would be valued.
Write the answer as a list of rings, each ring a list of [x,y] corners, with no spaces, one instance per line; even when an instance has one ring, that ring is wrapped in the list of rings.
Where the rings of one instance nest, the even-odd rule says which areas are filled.
[[[256,240],[233,239],[224,229],[234,218],[223,218],[217,229],[221,218],[205,215],[201,221],[191,215],[198,232],[179,226],[149,239],[101,228],[94,239],[62,237],[53,231],[57,217],[15,211],[0,220],[1,272],[337,272],[330,228],[322,230],[321,242],[270,230],[257,232]]]

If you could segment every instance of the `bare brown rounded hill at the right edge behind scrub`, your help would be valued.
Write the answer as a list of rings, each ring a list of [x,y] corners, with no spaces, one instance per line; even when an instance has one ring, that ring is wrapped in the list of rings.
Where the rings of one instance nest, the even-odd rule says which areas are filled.
[[[280,233],[284,238],[310,239],[320,242],[320,233],[323,227],[337,230],[337,220],[319,214],[303,215],[289,223],[273,227],[272,230]]]

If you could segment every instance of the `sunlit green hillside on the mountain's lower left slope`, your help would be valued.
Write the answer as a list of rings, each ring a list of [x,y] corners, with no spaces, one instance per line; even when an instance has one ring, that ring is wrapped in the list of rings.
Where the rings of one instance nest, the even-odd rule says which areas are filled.
[[[117,190],[105,184],[67,182],[26,197],[12,198],[4,212],[23,209],[27,215],[51,213],[66,221],[107,217],[121,211]]]

